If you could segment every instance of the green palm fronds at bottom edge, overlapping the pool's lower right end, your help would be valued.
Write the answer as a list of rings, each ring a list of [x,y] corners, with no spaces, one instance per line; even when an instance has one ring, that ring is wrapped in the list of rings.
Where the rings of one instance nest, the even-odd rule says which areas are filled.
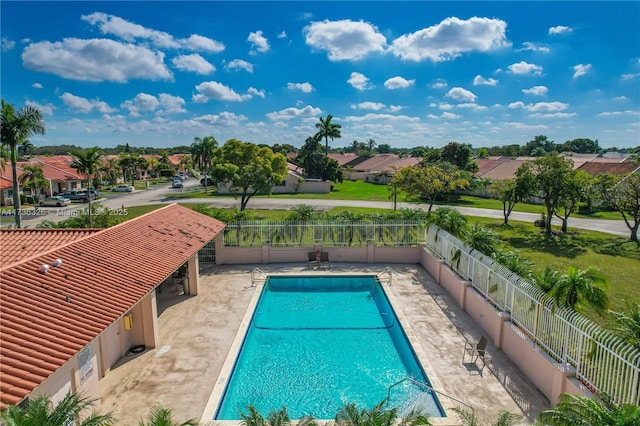
[[[336,426],[392,426],[398,418],[398,408],[386,408],[386,400],[377,403],[372,409],[359,409],[353,402],[341,407],[336,413]],[[411,410],[403,417],[399,425],[431,425],[429,417],[418,410]]]

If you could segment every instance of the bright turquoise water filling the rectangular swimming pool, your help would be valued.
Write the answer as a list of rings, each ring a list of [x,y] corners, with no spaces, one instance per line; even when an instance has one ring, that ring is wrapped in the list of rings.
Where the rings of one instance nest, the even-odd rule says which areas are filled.
[[[237,420],[254,405],[266,416],[331,419],[345,403],[371,408],[406,377],[430,385],[375,276],[274,277],[265,283],[216,420]],[[411,381],[390,405],[442,409]]]

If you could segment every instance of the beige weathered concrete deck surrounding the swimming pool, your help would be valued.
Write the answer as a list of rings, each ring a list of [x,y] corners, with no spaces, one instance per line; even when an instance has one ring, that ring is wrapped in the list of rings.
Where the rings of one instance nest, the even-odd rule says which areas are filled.
[[[482,331],[422,267],[332,262],[330,271],[311,271],[300,263],[202,268],[197,296],[158,299],[159,346],[123,357],[101,380],[102,410],[111,411],[119,425],[137,424],[158,404],[172,409],[176,422],[200,419],[254,296],[255,287],[248,286],[255,267],[267,274],[325,275],[376,274],[386,266],[393,280],[385,290],[446,394],[473,406],[481,424],[491,423],[501,410],[522,415],[521,424],[530,424],[549,407],[491,342],[482,373],[462,364],[465,338],[477,341]]]

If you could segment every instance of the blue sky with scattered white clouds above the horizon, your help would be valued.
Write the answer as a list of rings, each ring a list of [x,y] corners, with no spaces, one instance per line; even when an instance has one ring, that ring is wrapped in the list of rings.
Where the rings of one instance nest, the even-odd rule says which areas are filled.
[[[640,2],[0,3],[36,145],[640,146]]]

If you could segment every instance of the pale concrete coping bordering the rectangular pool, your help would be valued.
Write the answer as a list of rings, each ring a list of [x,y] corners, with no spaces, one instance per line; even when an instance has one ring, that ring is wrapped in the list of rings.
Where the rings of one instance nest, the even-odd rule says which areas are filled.
[[[371,273],[365,274],[365,273],[354,273],[354,272],[331,273],[331,271],[326,271],[323,273],[268,274],[266,275],[266,279],[268,279],[271,276],[273,277],[367,276],[367,277],[378,278],[378,275],[379,274],[371,274]],[[242,319],[242,322],[240,323],[238,332],[236,333],[233,343],[231,344],[231,348],[229,349],[227,358],[222,366],[222,369],[220,370],[220,375],[218,376],[218,379],[215,382],[215,385],[213,387],[213,391],[211,392],[209,400],[205,405],[202,416],[200,417],[200,423],[206,423],[206,422],[212,421],[214,419],[214,416],[216,415],[216,412],[220,404],[222,403],[222,398],[224,396],[225,389],[227,388],[229,380],[231,379],[231,375],[233,374],[233,369],[236,364],[236,361],[240,356],[240,350],[242,348],[242,344],[249,331],[249,327],[251,325],[251,321],[253,319],[253,315],[255,313],[258,301],[260,300],[260,295],[262,294],[262,290],[264,288],[265,283],[266,281],[257,283],[254,287],[253,297],[251,298],[251,301],[247,306],[247,310]],[[395,312],[396,318],[400,322],[400,326],[404,330],[404,334],[407,337],[407,340],[409,341],[411,348],[418,359],[418,362],[420,363],[424,373],[427,375],[428,380],[431,383],[431,387],[436,391],[436,394],[438,395],[438,402],[444,411],[443,413],[444,415],[442,417],[430,417],[429,420],[434,426],[457,425],[459,424],[457,422],[457,419],[455,421],[452,421],[452,418],[449,417],[449,413],[451,413],[450,410],[451,408],[453,408],[453,405],[449,403],[448,399],[442,400],[440,396],[441,394],[442,395],[446,395],[446,394],[444,392],[444,388],[442,387],[440,380],[438,379],[438,375],[436,374],[435,369],[431,366],[431,363],[429,362],[429,358],[426,356],[426,353],[422,349],[422,345],[420,344],[420,341],[417,339],[415,333],[411,329],[411,325],[409,324],[404,314],[402,313],[402,308],[396,301],[395,296],[391,291],[388,291],[387,288],[385,288],[390,285],[391,285],[391,280],[386,284],[380,283],[380,286],[382,287],[382,290],[384,291],[387,299],[389,300],[391,308]],[[331,419],[318,419],[318,420],[330,421]],[[240,420],[215,420],[215,421],[225,425],[235,425],[240,423]]]

